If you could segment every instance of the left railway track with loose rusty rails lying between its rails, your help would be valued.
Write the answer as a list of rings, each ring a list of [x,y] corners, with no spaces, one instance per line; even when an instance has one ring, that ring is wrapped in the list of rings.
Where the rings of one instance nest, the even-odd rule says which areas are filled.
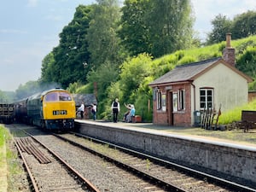
[[[15,137],[21,159],[32,183],[32,191],[99,192],[86,178],[35,137]]]

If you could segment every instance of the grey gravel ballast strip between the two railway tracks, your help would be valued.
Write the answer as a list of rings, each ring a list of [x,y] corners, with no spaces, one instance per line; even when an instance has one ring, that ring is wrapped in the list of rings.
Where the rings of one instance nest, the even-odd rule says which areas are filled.
[[[165,191],[156,187],[154,184],[145,182],[143,179],[114,166],[106,159],[86,152],[84,149],[73,146],[70,143],[63,142],[50,134],[45,134],[35,128],[26,128],[26,131],[34,135],[39,142],[51,148],[52,151],[55,151],[55,154],[58,154],[62,159],[66,160],[68,164],[73,166],[74,170],[78,170],[80,175],[89,178],[90,182],[94,183],[100,191]],[[45,166],[48,165],[49,164],[46,164]],[[58,168],[55,169],[55,172],[59,172]],[[57,177],[60,177],[60,175]],[[64,186],[62,186],[62,188],[64,188]],[[55,191],[71,190],[61,190],[60,186],[56,188]]]

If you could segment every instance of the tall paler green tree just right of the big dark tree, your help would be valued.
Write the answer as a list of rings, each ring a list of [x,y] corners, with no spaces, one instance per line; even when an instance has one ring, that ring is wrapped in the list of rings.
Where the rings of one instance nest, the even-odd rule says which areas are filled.
[[[111,62],[119,65],[119,55],[122,49],[117,37],[120,18],[117,0],[97,1],[90,13],[90,26],[86,35],[90,51],[90,64],[99,67],[103,63]],[[96,69],[95,68],[95,69]]]

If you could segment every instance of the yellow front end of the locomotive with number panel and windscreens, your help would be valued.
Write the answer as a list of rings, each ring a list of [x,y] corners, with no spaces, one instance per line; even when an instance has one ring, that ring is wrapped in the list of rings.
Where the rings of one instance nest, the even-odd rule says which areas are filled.
[[[42,95],[41,101],[46,129],[73,129],[75,102],[67,90],[48,91]]]

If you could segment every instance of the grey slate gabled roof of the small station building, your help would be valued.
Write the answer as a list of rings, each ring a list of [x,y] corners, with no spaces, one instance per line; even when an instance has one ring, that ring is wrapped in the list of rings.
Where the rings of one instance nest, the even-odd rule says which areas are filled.
[[[249,78],[247,75],[237,70],[236,67],[232,67],[229,63],[224,61],[221,57],[218,57],[218,58],[212,58],[205,61],[198,61],[198,62],[177,66],[172,71],[161,76],[159,79],[155,79],[149,85],[154,87],[158,84],[170,84],[170,83],[173,84],[178,82],[193,81],[202,73],[206,73],[209,69],[218,65],[219,63],[223,63],[225,66],[230,67],[231,70],[235,71],[236,73],[240,74],[242,77],[247,79],[247,82],[253,81],[253,79]]]

